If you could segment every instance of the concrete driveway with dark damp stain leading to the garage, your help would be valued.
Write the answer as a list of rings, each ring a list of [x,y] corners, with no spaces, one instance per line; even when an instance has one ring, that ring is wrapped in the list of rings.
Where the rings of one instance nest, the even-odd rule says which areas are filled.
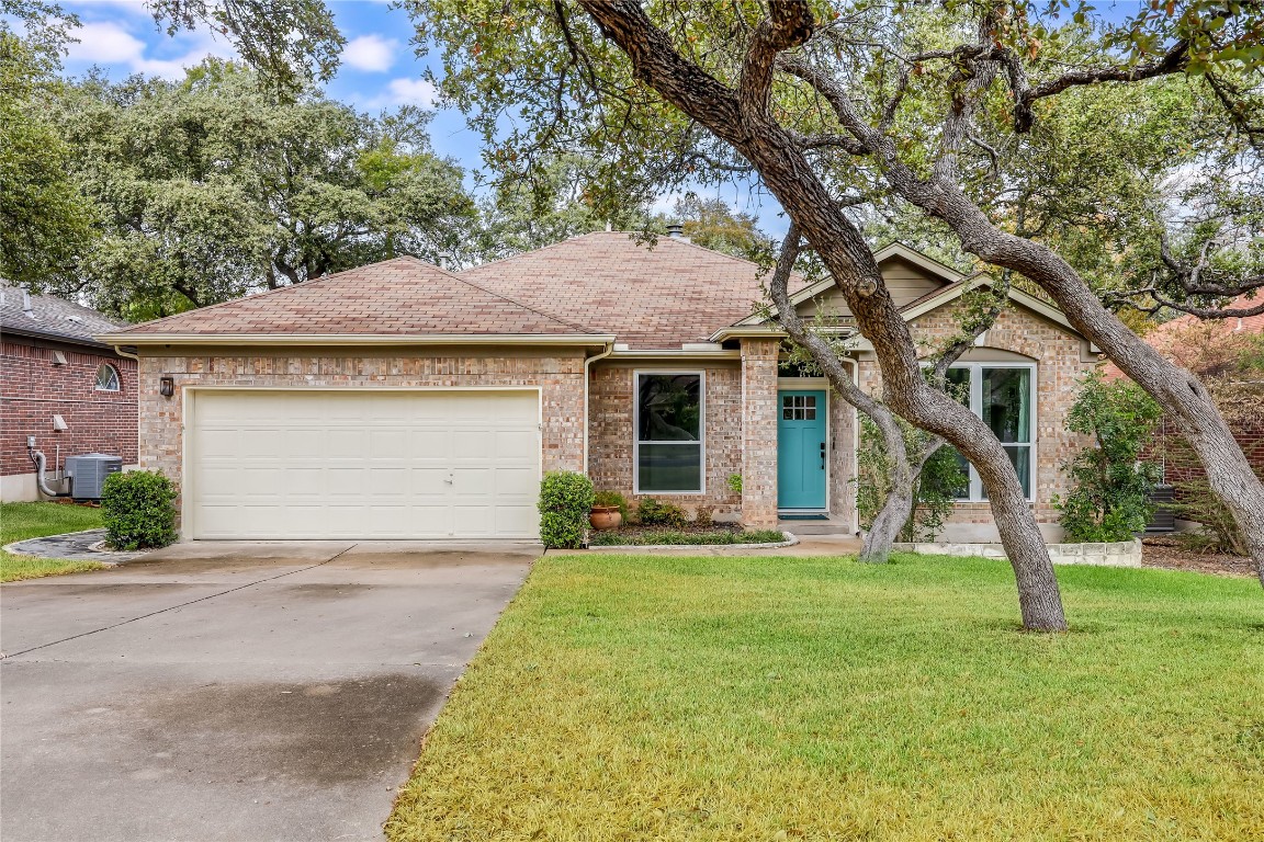
[[[193,543],[5,584],[0,838],[380,838],[537,555]]]

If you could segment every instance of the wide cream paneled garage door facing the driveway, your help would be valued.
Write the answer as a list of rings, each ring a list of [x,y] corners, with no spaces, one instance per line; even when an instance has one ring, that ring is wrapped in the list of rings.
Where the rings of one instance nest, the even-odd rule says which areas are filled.
[[[193,538],[538,535],[531,391],[198,391]]]

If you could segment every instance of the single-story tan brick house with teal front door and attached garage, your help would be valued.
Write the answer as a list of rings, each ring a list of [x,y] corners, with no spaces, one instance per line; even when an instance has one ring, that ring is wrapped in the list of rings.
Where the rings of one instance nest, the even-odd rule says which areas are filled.
[[[918,337],[954,331],[961,275],[901,245],[878,259]],[[785,365],[751,316],[762,282],[683,239],[590,234],[460,274],[399,258],[105,338],[140,356],[140,463],[179,483],[186,538],[533,538],[541,472],[562,468],[631,501],[854,531],[856,413]],[[1096,357],[1057,309],[1011,298],[957,376],[1054,538],[1063,415]],[[853,331],[829,282],[795,299]],[[977,480],[967,497],[952,534],[994,537]]]

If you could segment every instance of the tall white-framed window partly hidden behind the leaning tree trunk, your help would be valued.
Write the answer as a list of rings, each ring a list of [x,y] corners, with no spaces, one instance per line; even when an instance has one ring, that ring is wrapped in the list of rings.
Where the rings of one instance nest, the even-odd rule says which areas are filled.
[[[1035,473],[1033,438],[1035,366],[964,364],[953,366],[948,371],[948,382],[957,393],[958,400],[969,406],[996,433],[1019,475],[1024,496],[1030,500],[1031,477]],[[957,458],[961,461],[962,471],[969,477],[967,486],[961,489],[958,499],[987,500],[978,473],[966,457],[958,453]]]

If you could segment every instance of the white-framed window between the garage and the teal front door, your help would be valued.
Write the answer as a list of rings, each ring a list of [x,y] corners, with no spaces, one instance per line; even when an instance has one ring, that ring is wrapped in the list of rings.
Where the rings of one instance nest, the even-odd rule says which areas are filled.
[[[636,492],[703,491],[703,375],[636,375]]]

